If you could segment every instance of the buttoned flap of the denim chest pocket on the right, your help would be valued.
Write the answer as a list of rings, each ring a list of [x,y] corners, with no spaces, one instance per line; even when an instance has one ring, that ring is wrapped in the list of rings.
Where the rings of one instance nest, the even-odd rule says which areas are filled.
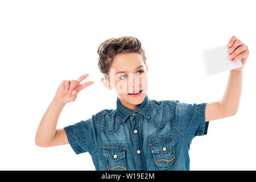
[[[161,137],[148,142],[148,146],[152,153],[166,153],[174,146],[175,140],[172,135]]]

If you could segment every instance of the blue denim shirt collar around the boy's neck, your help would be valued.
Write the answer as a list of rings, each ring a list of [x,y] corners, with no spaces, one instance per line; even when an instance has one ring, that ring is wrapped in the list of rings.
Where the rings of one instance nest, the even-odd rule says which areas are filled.
[[[151,117],[151,109],[152,109],[152,104],[147,94],[145,95],[143,102],[137,107],[136,110],[131,110],[128,107],[123,106],[119,98],[117,97],[117,112],[121,116],[122,122],[125,122],[127,117],[129,117],[131,113],[136,113],[136,112],[141,113],[142,115],[144,115],[144,117],[147,117],[149,119]]]

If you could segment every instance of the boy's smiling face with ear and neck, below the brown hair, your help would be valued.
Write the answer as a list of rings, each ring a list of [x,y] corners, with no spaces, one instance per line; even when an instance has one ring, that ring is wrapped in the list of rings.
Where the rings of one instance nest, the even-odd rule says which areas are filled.
[[[108,74],[109,81],[101,78],[108,89],[115,89],[123,106],[135,110],[147,92],[147,65],[139,53],[122,53],[114,57]],[[129,93],[137,93],[131,95]]]

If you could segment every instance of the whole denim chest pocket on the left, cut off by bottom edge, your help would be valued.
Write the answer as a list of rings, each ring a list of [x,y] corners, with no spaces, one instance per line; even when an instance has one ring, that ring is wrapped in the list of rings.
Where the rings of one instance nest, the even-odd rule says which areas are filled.
[[[111,171],[127,171],[126,146],[116,144],[104,145],[103,155],[106,158],[106,168]]]

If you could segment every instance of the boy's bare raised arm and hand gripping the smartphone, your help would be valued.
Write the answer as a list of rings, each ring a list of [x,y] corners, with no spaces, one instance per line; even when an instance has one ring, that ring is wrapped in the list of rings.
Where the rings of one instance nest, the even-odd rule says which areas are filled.
[[[242,60],[242,67],[232,69],[229,73],[228,85],[224,95],[220,101],[207,104],[205,107],[205,121],[212,121],[235,115],[238,111],[238,106],[242,93],[242,74],[245,66],[249,50],[247,46],[236,36],[232,36],[229,40],[229,59],[236,63]]]

